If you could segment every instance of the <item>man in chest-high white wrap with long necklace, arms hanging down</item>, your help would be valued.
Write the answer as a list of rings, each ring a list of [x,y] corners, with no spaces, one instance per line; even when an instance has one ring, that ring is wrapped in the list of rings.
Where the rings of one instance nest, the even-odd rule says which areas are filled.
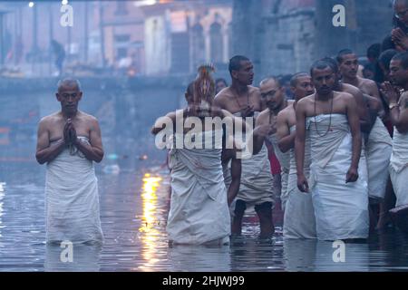
[[[317,61],[310,75],[316,93],[296,105],[297,187],[312,193],[318,239],[366,238],[368,189],[358,172],[362,140],[355,98],[333,91],[335,75],[329,63]],[[309,180],[304,173],[306,128],[311,150]]]

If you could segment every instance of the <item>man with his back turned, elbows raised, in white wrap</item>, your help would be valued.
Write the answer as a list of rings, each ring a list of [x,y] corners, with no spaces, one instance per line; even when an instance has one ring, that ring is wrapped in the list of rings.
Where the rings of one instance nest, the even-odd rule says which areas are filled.
[[[214,129],[211,122],[222,119],[232,124],[235,120],[228,111],[212,106],[215,91],[209,75],[212,70],[211,66],[201,66],[199,78],[193,88],[189,85],[187,90],[187,94],[192,95],[192,100],[187,98],[188,108],[160,117],[151,131],[156,135],[158,147],[172,143],[169,153],[171,199],[166,227],[170,245],[229,244],[228,203],[238,194],[240,160],[228,152],[234,150],[233,146],[227,150],[222,141],[223,137],[226,140],[232,137],[231,128],[224,131],[223,125],[216,122]],[[234,162],[238,161],[238,166],[232,166],[229,190],[224,183],[221,161],[227,153],[229,157],[234,155]]]

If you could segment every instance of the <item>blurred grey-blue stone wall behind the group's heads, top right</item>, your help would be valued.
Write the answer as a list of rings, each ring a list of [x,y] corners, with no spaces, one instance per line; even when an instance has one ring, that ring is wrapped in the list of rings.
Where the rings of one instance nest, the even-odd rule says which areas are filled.
[[[332,24],[345,5],[345,27]],[[308,71],[314,60],[351,48],[364,56],[392,28],[388,0],[234,0],[233,53],[255,65],[256,84],[267,75]]]

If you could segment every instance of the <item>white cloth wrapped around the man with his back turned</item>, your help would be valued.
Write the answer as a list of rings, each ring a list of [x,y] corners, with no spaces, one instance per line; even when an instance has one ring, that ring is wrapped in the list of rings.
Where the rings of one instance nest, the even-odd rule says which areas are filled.
[[[207,142],[218,135],[215,131],[199,132],[196,140],[202,137]],[[183,135],[176,134],[175,138],[183,138]],[[221,141],[216,140],[218,145],[214,149],[204,144],[203,149],[170,150],[171,200],[167,232],[172,243],[222,245],[229,242],[230,218],[222,175],[222,150],[217,149]]]

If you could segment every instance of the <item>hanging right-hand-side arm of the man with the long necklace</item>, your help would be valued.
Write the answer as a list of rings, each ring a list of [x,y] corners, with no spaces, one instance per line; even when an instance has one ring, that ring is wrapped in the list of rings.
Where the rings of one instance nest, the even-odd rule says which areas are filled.
[[[361,154],[361,131],[359,124],[358,111],[356,110],[355,98],[350,95],[346,96],[345,108],[350,131],[352,134],[352,163],[348,169],[345,182],[355,182],[358,179],[358,162]]]

